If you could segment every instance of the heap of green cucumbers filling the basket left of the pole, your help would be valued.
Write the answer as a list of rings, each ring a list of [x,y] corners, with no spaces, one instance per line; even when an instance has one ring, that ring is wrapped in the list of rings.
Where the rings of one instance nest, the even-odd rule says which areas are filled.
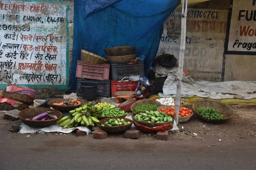
[[[148,123],[166,123],[173,121],[171,116],[158,111],[145,111],[145,113],[136,114],[133,117],[134,119]]]

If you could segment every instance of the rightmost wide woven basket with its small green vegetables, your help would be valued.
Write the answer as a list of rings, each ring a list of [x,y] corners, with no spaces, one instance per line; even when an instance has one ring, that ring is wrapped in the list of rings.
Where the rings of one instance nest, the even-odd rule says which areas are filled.
[[[224,123],[234,116],[234,111],[230,106],[212,99],[194,102],[193,109],[200,119],[211,123]]]

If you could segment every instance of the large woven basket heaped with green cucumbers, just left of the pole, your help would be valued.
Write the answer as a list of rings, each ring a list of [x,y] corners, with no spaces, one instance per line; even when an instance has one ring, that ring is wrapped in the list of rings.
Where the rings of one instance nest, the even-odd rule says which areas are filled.
[[[135,112],[132,115],[132,119],[147,127],[156,127],[173,123],[171,116],[159,111],[145,111],[145,113]]]

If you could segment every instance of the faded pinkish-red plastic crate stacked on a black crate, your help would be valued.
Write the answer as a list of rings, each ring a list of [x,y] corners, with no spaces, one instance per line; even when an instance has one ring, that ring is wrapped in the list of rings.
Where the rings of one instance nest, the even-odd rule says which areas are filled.
[[[109,77],[110,64],[89,64],[77,61],[76,77],[83,79],[105,80]]]

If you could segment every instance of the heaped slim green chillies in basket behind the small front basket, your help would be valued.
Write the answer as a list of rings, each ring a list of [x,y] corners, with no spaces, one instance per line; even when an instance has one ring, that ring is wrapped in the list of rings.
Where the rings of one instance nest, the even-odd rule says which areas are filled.
[[[122,111],[119,108],[104,108],[102,109],[102,113],[98,116],[99,120],[106,119],[106,118],[112,118],[112,119],[122,119],[127,116],[127,113],[125,111]]]

